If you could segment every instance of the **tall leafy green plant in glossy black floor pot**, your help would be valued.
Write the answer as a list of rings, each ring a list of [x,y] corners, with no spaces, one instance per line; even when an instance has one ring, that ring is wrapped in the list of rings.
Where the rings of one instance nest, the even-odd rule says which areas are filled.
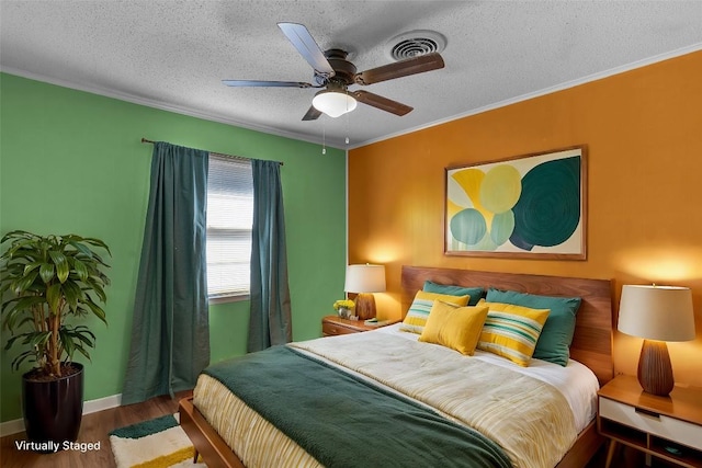
[[[12,361],[14,370],[25,361],[35,364],[22,376],[26,435],[31,448],[55,452],[59,444],[75,442],[80,430],[83,367],[73,355],[90,358],[95,335],[76,319],[93,315],[106,323],[99,303],[106,300],[110,279],[103,270],[109,265],[95,250],[111,253],[101,240],[76,235],[14,230],[0,240],[5,242],[0,297],[8,298],[0,310],[2,327],[12,336],[4,349],[23,349]]]

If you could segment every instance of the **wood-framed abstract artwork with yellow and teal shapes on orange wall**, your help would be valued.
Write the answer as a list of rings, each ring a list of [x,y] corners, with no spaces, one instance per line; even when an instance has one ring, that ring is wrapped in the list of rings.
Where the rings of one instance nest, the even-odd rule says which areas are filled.
[[[445,172],[445,254],[587,258],[585,145]]]

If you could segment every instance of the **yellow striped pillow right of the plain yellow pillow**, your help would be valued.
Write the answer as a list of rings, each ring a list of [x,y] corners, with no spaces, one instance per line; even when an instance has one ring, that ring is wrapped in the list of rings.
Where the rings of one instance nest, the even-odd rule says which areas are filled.
[[[490,309],[478,340],[478,350],[507,357],[528,367],[550,309],[530,309],[512,304],[478,301]]]

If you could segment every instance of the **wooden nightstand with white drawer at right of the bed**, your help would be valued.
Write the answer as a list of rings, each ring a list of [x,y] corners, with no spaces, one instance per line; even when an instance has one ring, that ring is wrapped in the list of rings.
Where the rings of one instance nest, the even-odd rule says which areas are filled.
[[[609,437],[607,467],[624,444],[683,467],[702,467],[702,388],[676,386],[668,397],[646,393],[632,376],[598,392],[597,426]]]

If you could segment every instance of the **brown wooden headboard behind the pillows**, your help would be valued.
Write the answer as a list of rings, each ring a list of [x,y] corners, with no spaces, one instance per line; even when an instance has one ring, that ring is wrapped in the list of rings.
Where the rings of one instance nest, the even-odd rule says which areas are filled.
[[[485,289],[518,290],[544,296],[580,297],[570,357],[588,366],[600,385],[614,375],[612,361],[612,282],[566,276],[519,273],[477,272],[472,270],[403,266],[403,317],[424,281],[461,286],[483,286]]]

